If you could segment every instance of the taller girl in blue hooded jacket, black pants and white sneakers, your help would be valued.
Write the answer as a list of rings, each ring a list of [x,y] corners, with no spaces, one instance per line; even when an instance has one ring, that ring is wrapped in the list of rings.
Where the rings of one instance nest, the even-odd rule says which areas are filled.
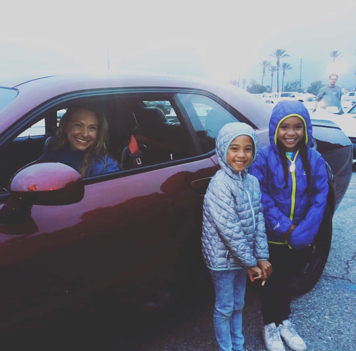
[[[250,167],[260,181],[273,267],[261,289],[263,339],[268,351],[284,351],[282,339],[292,350],[304,351],[289,321],[289,287],[304,268],[323,219],[328,176],[324,159],[310,148],[312,124],[303,103],[283,100],[273,108],[269,140]]]

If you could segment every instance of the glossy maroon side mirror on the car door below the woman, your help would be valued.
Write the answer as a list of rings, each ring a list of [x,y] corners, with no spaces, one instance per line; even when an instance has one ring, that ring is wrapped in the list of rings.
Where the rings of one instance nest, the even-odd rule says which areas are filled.
[[[0,222],[23,223],[32,205],[69,205],[84,196],[79,173],[59,162],[35,161],[17,171],[9,182],[10,198],[0,210]]]

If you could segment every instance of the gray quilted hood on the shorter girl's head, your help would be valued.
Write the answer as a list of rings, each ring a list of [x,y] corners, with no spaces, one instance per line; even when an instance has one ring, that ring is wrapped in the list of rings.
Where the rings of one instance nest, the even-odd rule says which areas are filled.
[[[253,140],[255,150],[252,156],[251,163],[256,159],[257,156],[257,134],[255,130],[253,130],[253,128],[250,127],[248,124],[242,122],[225,124],[224,127],[220,129],[216,138],[216,156],[218,158],[218,162],[221,169],[223,169],[230,175],[236,174],[237,172],[226,161],[227,149],[229,148],[231,141],[239,135],[248,135]],[[250,165],[245,168],[245,171],[247,171],[247,168]]]

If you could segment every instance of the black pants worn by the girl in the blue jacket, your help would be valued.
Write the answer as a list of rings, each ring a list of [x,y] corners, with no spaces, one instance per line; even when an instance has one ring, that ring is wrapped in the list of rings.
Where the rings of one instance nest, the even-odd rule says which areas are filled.
[[[288,245],[268,244],[272,275],[261,287],[263,323],[281,324],[290,314],[290,282],[308,262],[310,247],[290,249]]]

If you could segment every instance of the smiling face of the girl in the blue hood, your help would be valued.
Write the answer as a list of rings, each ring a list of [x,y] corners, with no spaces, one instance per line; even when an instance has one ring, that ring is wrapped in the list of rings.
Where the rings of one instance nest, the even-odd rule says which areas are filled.
[[[277,131],[277,140],[283,145],[286,152],[293,152],[295,146],[303,139],[304,123],[297,117],[286,118]]]

